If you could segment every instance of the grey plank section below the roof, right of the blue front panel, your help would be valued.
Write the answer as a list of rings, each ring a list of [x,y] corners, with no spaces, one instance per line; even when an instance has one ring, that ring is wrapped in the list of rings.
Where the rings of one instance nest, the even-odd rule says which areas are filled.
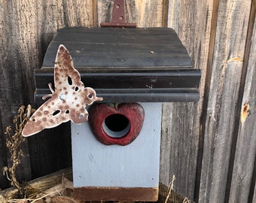
[[[197,174],[194,157],[198,150],[198,124],[194,123],[195,115],[188,114],[195,106],[194,103],[165,103],[162,117],[160,182],[169,185],[175,175],[175,191],[188,198],[194,198]]]

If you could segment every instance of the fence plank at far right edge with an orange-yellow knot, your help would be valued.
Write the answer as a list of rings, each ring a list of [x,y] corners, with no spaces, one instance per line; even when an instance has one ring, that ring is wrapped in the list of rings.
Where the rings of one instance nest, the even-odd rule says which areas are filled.
[[[255,2],[255,1],[254,1]],[[251,9],[251,23],[255,18],[255,7]],[[248,38],[251,49],[248,51],[247,73],[239,120],[239,132],[236,141],[236,153],[233,163],[230,202],[249,202],[250,187],[254,183],[254,160],[256,156],[256,23]],[[255,174],[254,174],[255,175]],[[252,196],[252,194],[251,194]]]

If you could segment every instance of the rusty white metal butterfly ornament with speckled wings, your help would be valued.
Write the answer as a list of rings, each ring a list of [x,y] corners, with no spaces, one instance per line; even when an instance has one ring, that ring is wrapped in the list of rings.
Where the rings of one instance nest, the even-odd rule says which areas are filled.
[[[30,117],[26,123],[22,135],[28,137],[72,120],[75,124],[87,122],[87,105],[95,101],[102,101],[97,97],[91,87],[84,87],[79,72],[74,68],[74,63],[69,51],[62,44],[56,54],[54,65],[54,85],[48,84],[50,95],[44,95],[43,99],[50,97]]]

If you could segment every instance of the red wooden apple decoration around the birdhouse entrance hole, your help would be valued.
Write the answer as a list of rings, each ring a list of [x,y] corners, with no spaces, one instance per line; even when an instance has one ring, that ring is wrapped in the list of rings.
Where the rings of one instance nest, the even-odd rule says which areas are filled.
[[[138,103],[117,106],[95,104],[89,110],[90,127],[102,144],[127,145],[134,141],[142,129],[144,109]]]

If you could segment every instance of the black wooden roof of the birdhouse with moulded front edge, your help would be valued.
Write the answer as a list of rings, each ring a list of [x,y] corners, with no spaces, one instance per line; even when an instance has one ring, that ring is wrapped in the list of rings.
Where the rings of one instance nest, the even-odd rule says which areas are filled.
[[[197,102],[200,70],[175,31],[163,28],[65,28],[35,70],[35,99],[48,94],[59,44],[72,56],[84,86],[104,102]]]

